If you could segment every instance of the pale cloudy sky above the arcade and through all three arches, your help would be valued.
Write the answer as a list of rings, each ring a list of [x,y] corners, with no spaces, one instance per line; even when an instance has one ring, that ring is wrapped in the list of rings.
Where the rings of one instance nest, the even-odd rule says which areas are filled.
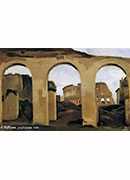
[[[93,54],[97,56],[118,56],[118,57],[130,57],[130,48],[74,48],[78,51],[83,51],[88,54]],[[30,71],[26,67],[13,66],[5,71],[5,74],[9,73],[20,73],[29,74]],[[106,82],[109,89],[113,93],[114,99],[115,90],[119,87],[119,80],[125,77],[124,72],[116,66],[107,66],[97,73],[96,82]],[[69,65],[59,65],[54,67],[50,74],[49,80],[53,80],[57,86],[57,94],[63,95],[62,88],[69,84],[80,83],[80,76],[78,71]]]

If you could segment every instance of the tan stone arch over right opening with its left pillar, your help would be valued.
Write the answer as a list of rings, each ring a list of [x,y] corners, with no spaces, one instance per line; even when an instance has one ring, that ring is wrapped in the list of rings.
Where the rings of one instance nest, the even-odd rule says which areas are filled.
[[[86,99],[87,101],[85,100],[85,98],[82,99],[83,101],[82,114],[84,114],[83,116],[84,125],[93,124],[95,127],[97,126],[98,111],[97,111],[97,105],[96,105],[95,80],[96,80],[96,74],[98,70],[106,65],[115,65],[115,66],[121,67],[121,69],[123,69],[124,72],[127,74],[127,77],[129,79],[128,83],[130,84],[130,78],[129,78],[130,77],[130,72],[129,72],[130,64],[129,62],[126,62],[124,59],[104,57],[104,58],[94,59],[91,63],[89,63],[87,72],[86,74],[84,73],[84,76],[83,76],[83,82],[87,81],[87,83],[83,87],[86,89],[85,90],[86,93],[84,94],[84,96],[87,98]]]

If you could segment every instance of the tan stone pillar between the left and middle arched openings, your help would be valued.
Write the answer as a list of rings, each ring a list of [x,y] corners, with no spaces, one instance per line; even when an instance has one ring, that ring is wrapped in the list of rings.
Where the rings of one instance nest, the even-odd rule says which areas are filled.
[[[48,125],[47,80],[39,76],[32,77],[33,124]]]

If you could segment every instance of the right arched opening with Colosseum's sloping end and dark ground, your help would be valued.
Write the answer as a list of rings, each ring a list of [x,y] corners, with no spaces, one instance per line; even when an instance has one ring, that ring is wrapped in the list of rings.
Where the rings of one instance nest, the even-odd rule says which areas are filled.
[[[105,65],[96,74],[96,105],[98,125],[120,127],[128,116],[128,81],[125,71],[117,65]]]

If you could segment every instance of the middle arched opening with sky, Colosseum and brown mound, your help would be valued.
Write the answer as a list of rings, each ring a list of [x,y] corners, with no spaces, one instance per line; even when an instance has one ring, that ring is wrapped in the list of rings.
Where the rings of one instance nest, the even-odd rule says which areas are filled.
[[[52,126],[82,124],[80,73],[71,64],[56,65],[49,71],[48,111]]]

